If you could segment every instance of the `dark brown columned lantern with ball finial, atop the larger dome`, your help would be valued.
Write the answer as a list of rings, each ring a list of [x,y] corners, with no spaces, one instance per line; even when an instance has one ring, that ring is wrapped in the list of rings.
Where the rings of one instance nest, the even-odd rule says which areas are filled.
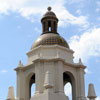
[[[45,33],[57,33],[57,24],[58,18],[56,17],[55,13],[51,11],[51,7],[47,8],[47,12],[43,15],[41,22],[42,22],[42,34]]]

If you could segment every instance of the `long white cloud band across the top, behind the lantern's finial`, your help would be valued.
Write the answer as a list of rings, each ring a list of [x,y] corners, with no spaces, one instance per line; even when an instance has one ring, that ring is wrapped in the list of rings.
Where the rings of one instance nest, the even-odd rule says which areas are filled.
[[[72,2],[74,1],[72,0]],[[60,19],[59,26],[73,24],[88,27],[87,16],[74,16],[66,9],[66,3],[68,0],[0,0],[0,14],[8,15],[9,12],[17,12],[34,22],[41,18],[48,6],[52,6],[53,11]]]

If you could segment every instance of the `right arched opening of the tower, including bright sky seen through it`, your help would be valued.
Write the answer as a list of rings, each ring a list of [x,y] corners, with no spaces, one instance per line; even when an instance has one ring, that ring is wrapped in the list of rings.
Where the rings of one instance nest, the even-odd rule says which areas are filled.
[[[63,85],[65,95],[69,97],[69,100],[75,100],[75,79],[70,72],[63,73]]]

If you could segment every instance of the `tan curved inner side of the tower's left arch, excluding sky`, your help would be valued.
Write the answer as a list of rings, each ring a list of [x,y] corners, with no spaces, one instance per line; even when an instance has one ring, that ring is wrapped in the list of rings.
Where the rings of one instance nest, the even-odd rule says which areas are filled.
[[[27,77],[25,81],[25,100],[30,100],[31,98],[31,88],[32,84],[35,84],[35,73],[31,72]]]

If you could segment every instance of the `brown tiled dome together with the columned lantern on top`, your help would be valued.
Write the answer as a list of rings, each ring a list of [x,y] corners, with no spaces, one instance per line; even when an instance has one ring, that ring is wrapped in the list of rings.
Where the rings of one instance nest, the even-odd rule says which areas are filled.
[[[69,48],[68,43],[57,32],[58,18],[48,7],[48,11],[41,19],[42,35],[33,43],[31,49],[40,45],[60,45]]]

